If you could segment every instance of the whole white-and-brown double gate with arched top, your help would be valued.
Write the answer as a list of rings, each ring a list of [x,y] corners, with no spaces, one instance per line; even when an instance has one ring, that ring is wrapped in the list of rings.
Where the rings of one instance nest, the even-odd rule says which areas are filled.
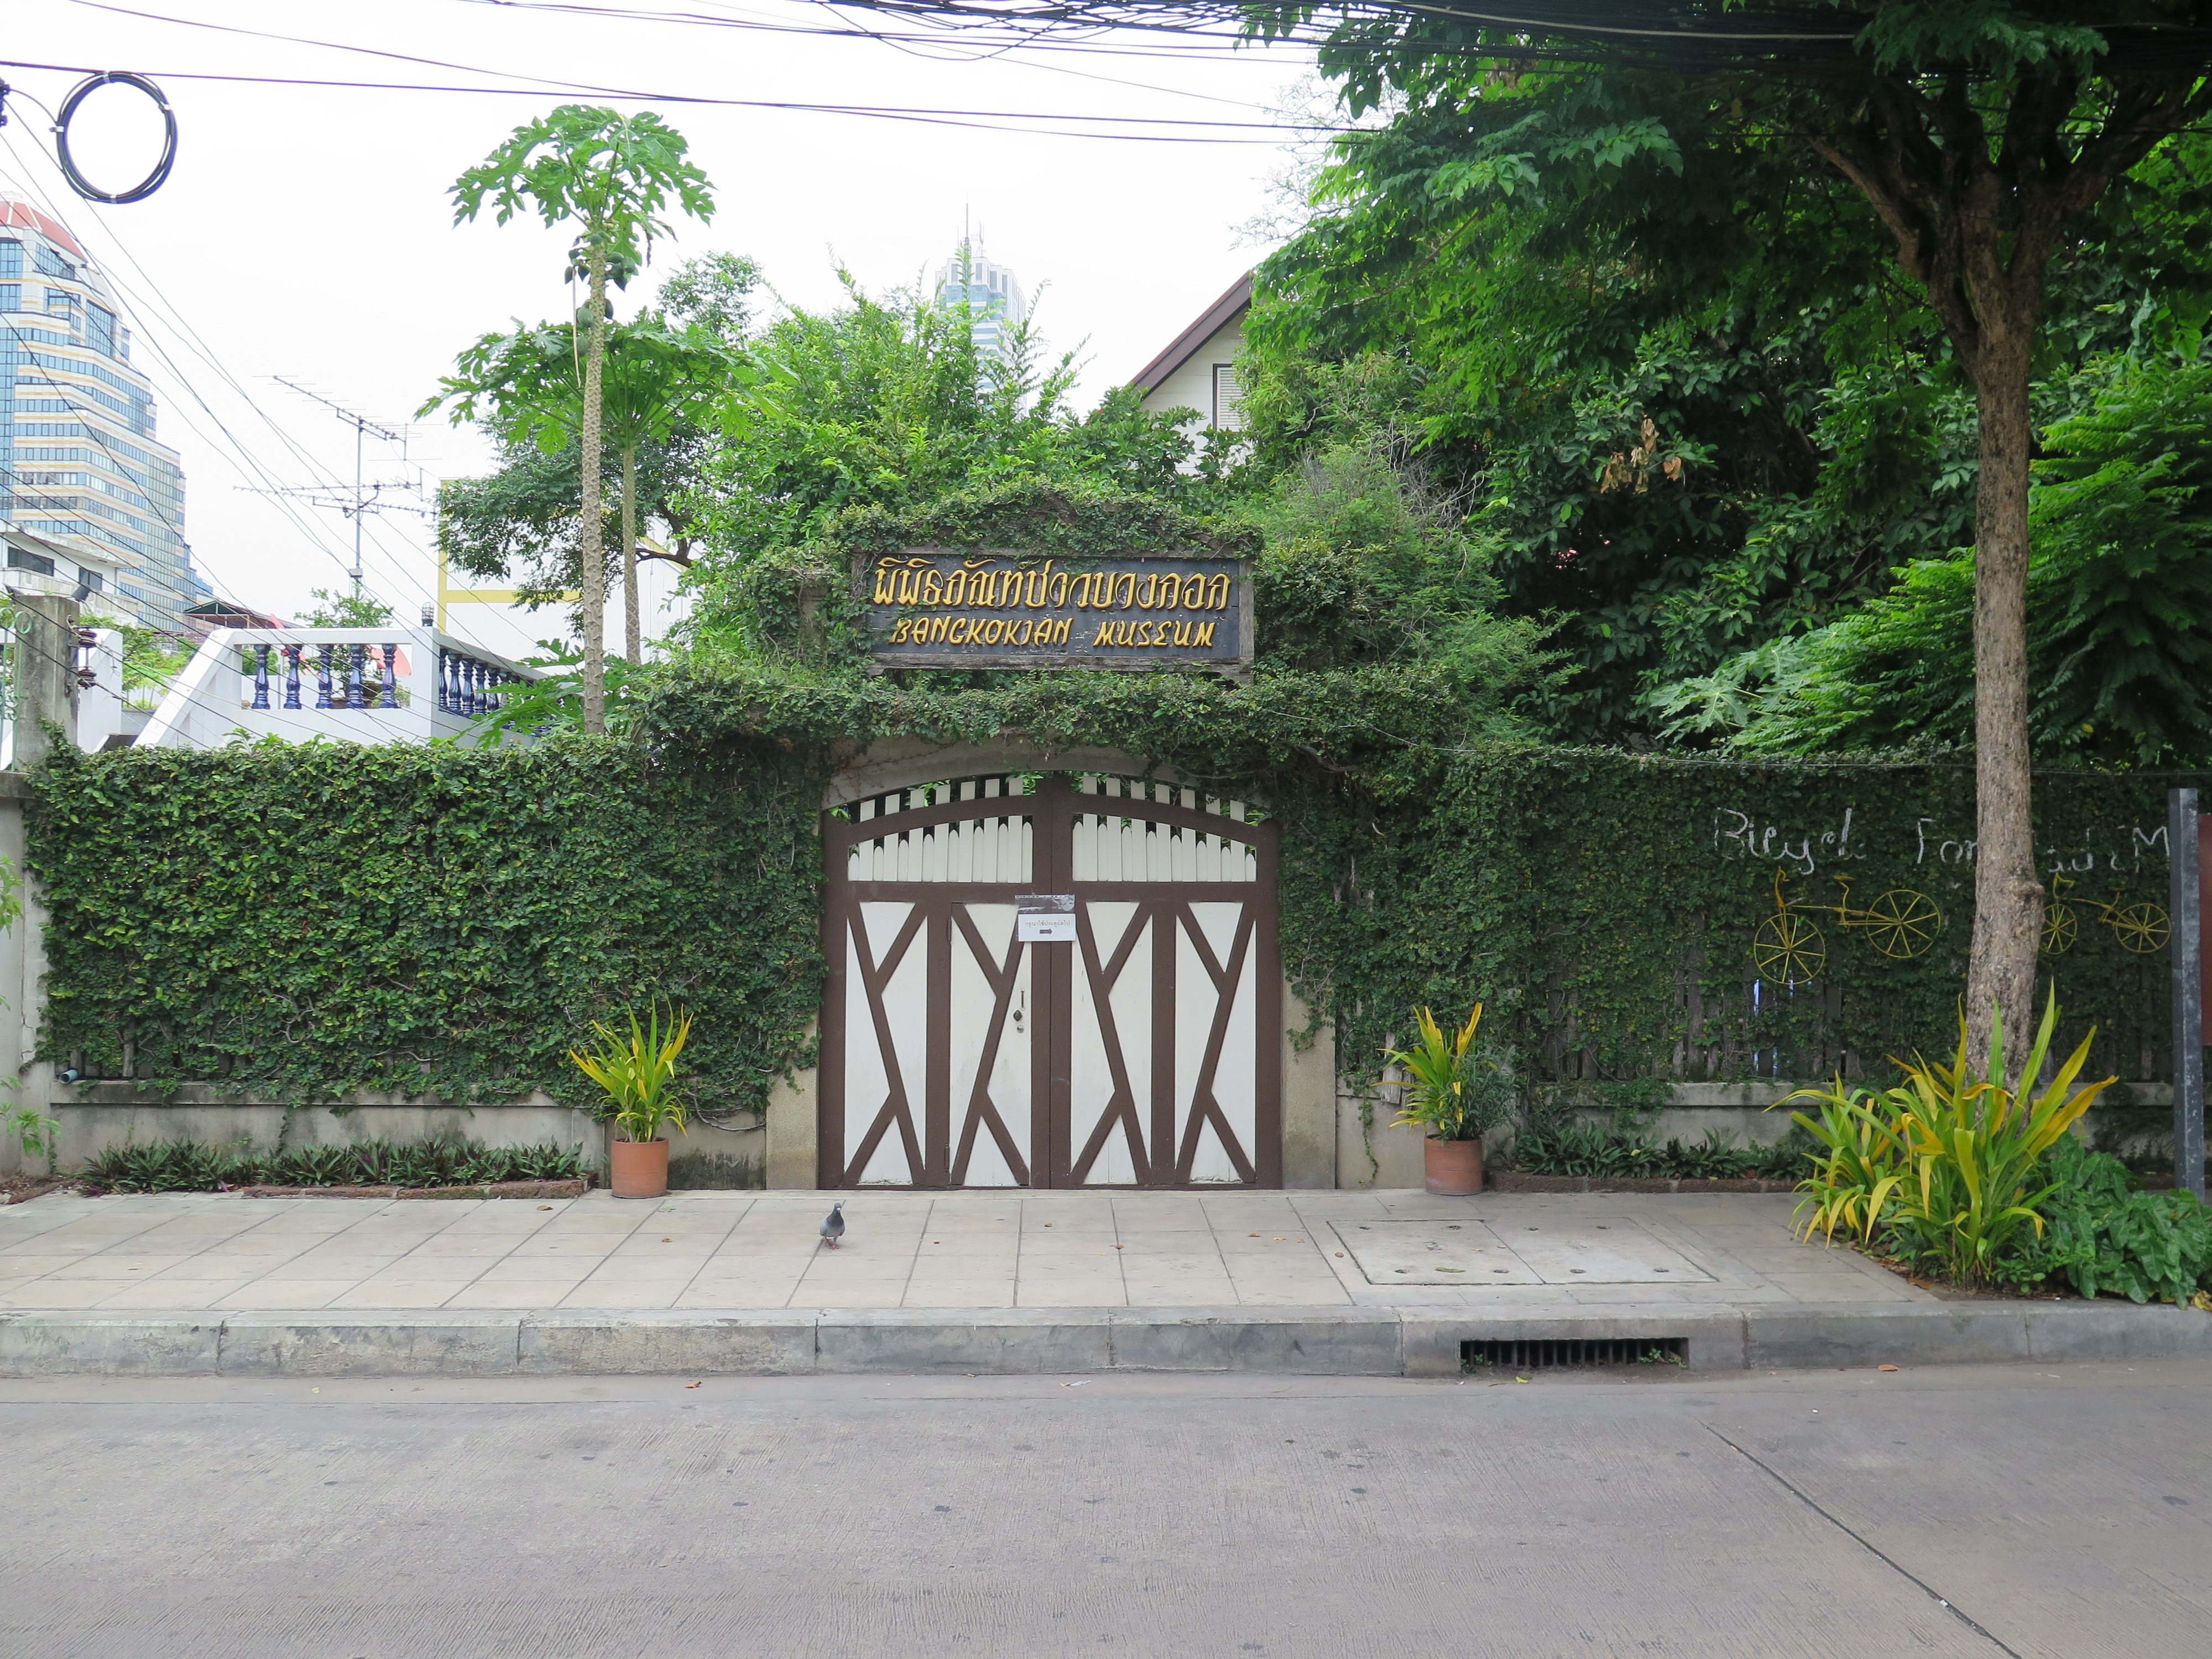
[[[825,814],[821,1183],[1281,1186],[1276,832],[1119,776]],[[1075,900],[1022,942],[1018,898]]]

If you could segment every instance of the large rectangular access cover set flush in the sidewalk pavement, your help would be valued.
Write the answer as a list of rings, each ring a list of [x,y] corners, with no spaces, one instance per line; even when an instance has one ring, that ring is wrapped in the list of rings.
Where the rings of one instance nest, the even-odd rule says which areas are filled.
[[[1712,1274],[1619,1217],[1338,1221],[1369,1285],[1710,1285]]]

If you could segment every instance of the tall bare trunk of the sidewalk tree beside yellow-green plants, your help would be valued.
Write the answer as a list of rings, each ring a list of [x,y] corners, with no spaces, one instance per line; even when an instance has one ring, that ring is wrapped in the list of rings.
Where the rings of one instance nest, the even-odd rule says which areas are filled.
[[[2028,770],[2028,416],[2031,321],[1986,334],[1975,361],[1982,471],[1973,531],[1973,947],[1966,958],[1969,1053],[1989,1053],[2004,1018],[2017,1071],[2035,1015],[2044,889],[2035,872]],[[1980,1064],[1978,1064],[1980,1068]]]

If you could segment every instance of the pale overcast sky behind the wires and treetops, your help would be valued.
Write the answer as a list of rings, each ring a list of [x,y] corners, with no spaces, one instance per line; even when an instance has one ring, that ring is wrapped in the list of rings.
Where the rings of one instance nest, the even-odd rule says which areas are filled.
[[[779,0],[692,0],[688,15],[792,27],[872,18],[876,29],[911,31],[880,13],[841,15]],[[332,411],[272,376],[398,425],[476,334],[513,316],[560,316],[566,237],[535,221],[456,228],[447,186],[515,124],[553,104],[635,104],[560,86],[502,97],[241,86],[186,73],[453,86],[546,77],[728,100],[1267,122],[1265,111],[1292,97],[1310,69],[1290,51],[1179,60],[1150,55],[1172,53],[1172,42],[1119,44],[1146,55],[1031,51],[962,62],[942,49],[878,40],[564,15],[482,0],[148,0],[135,15],[49,0],[9,7],[7,55],[166,75],[181,128],[177,166],[144,204],[80,201],[53,168],[44,117],[15,100],[0,131],[0,190],[58,206],[122,290],[135,361],[161,396],[159,436],[184,451],[186,533],[199,568],[228,597],[290,615],[310,604],[310,588],[343,584],[352,529],[334,511],[239,487],[349,482],[354,451]],[[0,75],[49,108],[77,80],[38,69]],[[100,168],[100,184],[133,173],[144,153],[146,133],[128,104],[128,93],[102,91],[80,117],[80,153],[88,170]],[[790,303],[830,305],[838,261],[872,290],[911,283],[953,250],[967,219],[987,254],[1011,265],[1033,296],[1048,343],[1082,349],[1086,407],[1261,257],[1243,228],[1270,208],[1270,179],[1287,164],[1274,135],[1259,131],[1214,137],[1261,142],[1139,144],[858,115],[653,106],[690,139],[719,199],[714,221],[684,223],[661,259],[743,252],[761,261]],[[633,285],[624,314],[650,285]],[[407,453],[434,482],[478,471],[487,451],[469,431],[416,425]],[[392,447],[372,442],[367,456],[369,478],[407,476]],[[420,495],[394,500],[427,504]],[[434,584],[427,520],[372,518],[365,564],[369,588],[411,622]]]

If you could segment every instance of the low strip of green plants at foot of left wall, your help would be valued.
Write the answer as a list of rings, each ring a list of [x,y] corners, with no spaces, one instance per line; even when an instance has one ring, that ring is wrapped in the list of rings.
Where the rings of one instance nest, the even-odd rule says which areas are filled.
[[[201,1141],[115,1146],[84,1166],[84,1183],[106,1192],[221,1192],[239,1186],[491,1186],[580,1181],[591,1166],[562,1146],[476,1141],[354,1141],[276,1152]]]

